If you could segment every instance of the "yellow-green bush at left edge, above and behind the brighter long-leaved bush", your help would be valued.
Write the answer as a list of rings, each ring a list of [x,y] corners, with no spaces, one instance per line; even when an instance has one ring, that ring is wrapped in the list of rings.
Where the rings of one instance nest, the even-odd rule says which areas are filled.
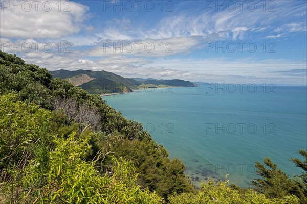
[[[0,96],[0,168],[25,163],[33,144],[53,132],[50,112],[16,101],[13,94]]]

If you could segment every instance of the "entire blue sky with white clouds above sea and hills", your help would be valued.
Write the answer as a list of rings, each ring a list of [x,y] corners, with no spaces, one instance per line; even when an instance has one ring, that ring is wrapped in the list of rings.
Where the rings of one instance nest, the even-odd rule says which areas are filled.
[[[49,70],[306,85],[306,1],[0,2],[1,50]]]

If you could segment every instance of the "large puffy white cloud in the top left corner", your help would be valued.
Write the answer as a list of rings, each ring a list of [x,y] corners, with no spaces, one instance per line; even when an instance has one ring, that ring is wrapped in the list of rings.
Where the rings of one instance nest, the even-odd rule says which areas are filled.
[[[89,7],[71,1],[36,1],[37,4],[35,1],[26,1],[28,4],[23,1],[3,2],[0,8],[1,35],[8,38],[68,36],[81,30],[89,10]]]

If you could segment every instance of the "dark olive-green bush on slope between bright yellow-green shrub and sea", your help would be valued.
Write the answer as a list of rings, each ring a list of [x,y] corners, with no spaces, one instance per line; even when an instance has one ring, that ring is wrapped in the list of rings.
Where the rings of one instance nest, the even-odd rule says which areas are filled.
[[[111,142],[107,142],[111,141]],[[108,144],[106,144],[108,143]],[[184,175],[185,166],[178,160],[169,160],[166,149],[153,140],[104,140],[109,146],[105,152],[115,152],[117,156],[131,160],[139,173],[139,183],[143,188],[156,191],[167,199],[178,192],[193,192],[194,187]],[[104,163],[108,163],[106,157]]]

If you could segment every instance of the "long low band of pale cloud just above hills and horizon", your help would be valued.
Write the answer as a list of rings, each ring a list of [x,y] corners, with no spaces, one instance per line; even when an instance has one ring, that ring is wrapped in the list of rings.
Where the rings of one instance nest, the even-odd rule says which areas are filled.
[[[23,56],[27,63],[35,63],[49,70],[106,70],[123,77],[143,77],[156,79],[184,79],[220,83],[283,83],[305,84],[305,75],[286,75],[290,69],[305,69],[304,61],[268,59],[254,61],[243,59],[157,59],[127,56],[109,56],[89,59],[84,53],[65,54],[27,53]]]

